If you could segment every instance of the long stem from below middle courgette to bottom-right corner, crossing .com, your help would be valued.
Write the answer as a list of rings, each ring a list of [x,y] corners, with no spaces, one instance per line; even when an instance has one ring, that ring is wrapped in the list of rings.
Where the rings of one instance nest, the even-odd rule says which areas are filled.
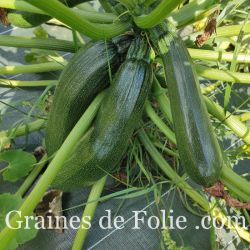
[[[211,212],[212,216],[222,222],[233,232],[236,232],[242,239],[250,242],[250,233],[241,228],[236,223],[231,222],[218,208],[210,209],[209,202],[184,181],[165,161],[159,151],[152,144],[145,131],[139,132],[139,138],[155,163],[179,188],[181,188],[195,203],[199,204],[206,212]]]

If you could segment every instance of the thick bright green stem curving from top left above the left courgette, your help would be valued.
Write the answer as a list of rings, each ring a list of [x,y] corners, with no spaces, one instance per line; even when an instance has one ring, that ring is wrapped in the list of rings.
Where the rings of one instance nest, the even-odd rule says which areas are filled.
[[[57,0],[25,0],[92,39],[108,39],[130,29],[129,23],[93,24]]]

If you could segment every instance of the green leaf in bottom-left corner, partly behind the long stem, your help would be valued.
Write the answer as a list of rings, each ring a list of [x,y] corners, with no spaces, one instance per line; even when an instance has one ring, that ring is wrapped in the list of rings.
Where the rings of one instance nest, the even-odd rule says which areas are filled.
[[[23,199],[19,195],[5,193],[0,195],[0,230],[2,230],[5,224],[5,218],[8,212],[18,210],[21,206]],[[30,229],[20,228],[17,231],[16,237],[13,238],[6,250],[16,249],[18,245],[23,244],[36,237],[38,230],[34,227],[35,221],[29,221]]]

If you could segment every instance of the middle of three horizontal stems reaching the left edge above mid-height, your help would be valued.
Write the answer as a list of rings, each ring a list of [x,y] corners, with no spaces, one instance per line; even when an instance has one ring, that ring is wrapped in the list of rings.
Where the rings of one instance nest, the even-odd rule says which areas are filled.
[[[41,73],[62,70],[66,62],[46,62],[29,65],[0,66],[0,74]]]

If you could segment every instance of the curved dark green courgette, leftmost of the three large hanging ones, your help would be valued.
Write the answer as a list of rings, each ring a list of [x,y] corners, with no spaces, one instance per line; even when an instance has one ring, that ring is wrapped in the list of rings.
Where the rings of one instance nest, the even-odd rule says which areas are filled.
[[[131,39],[131,36],[122,35],[111,41],[89,43],[65,67],[46,127],[45,144],[49,156],[60,148],[94,97],[108,86],[109,73],[118,68]]]

